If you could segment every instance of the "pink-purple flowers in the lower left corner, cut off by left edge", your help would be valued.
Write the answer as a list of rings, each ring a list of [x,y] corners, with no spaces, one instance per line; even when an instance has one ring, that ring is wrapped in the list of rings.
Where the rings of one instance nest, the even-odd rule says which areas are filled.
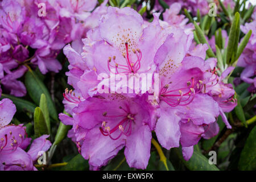
[[[26,127],[22,124],[9,124],[15,112],[16,107],[9,99],[0,101],[0,170],[36,170],[34,162],[38,159],[39,152],[47,151],[51,146],[51,142],[46,140],[49,135],[35,139],[30,150],[24,151],[31,138],[26,138]]]

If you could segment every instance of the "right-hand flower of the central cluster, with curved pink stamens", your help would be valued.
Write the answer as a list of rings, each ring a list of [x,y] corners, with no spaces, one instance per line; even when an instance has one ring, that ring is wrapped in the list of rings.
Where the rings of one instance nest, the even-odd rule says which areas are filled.
[[[211,59],[204,61],[207,47],[198,45],[190,51],[189,35],[179,29],[173,33],[158,49],[154,59],[160,77],[160,118],[155,132],[160,144],[168,150],[181,144],[184,159],[188,160],[201,137],[209,139],[218,133],[216,118],[223,113],[221,108],[229,105],[226,102],[234,90],[228,88],[230,93],[214,101],[214,96],[205,92],[207,85],[213,86],[212,82],[218,80],[211,72],[214,63]],[[232,104],[229,109],[234,106]],[[227,120],[224,122],[230,126]]]

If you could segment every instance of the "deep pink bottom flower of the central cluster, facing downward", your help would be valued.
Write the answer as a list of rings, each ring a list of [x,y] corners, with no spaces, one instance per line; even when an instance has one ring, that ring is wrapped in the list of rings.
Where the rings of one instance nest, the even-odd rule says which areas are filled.
[[[60,115],[64,123],[82,128],[84,138],[77,145],[92,168],[105,166],[123,147],[130,167],[147,167],[157,115],[145,98],[106,94],[80,102],[73,109],[73,121]]]

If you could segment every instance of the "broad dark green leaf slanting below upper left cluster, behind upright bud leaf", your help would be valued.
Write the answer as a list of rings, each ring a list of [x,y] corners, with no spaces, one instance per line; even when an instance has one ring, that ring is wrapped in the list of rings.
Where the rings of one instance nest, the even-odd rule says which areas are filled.
[[[28,94],[37,105],[40,104],[41,94],[43,93],[46,96],[49,115],[57,121],[57,111],[52,102],[51,96],[44,83],[31,69],[25,75],[25,85]]]

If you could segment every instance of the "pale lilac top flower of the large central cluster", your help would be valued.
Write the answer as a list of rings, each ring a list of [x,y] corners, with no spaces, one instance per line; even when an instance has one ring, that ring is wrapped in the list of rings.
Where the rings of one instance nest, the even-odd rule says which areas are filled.
[[[171,34],[168,31],[162,31],[158,15],[154,14],[155,19],[152,23],[144,24],[142,16],[133,9],[108,8],[108,13],[102,15],[99,26],[89,31],[88,38],[83,40],[85,46],[81,55],[86,60],[89,70],[80,76],[81,69],[76,69],[76,74],[79,74],[77,76],[80,76],[76,86],[81,90],[83,97],[95,94],[93,90],[102,83],[96,80],[101,73],[105,73],[108,77],[110,73],[126,76],[129,73],[134,75],[154,73],[155,53],[167,35]],[[85,84],[88,81],[92,84],[89,88]]]

